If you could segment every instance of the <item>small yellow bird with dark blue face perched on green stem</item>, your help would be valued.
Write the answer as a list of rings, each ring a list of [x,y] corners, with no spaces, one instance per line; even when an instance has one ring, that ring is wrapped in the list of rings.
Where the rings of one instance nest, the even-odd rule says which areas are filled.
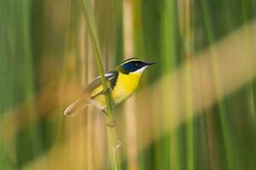
[[[134,94],[143,71],[148,65],[154,65],[154,63],[148,63],[137,58],[126,59],[113,71],[105,73],[108,85],[107,91],[103,91],[101,77],[96,77],[84,89],[82,96],[67,107],[64,114],[66,116],[73,116],[83,110],[88,104],[95,105],[97,109],[105,112],[107,105],[104,95],[106,93],[110,93],[113,106],[118,105]]]

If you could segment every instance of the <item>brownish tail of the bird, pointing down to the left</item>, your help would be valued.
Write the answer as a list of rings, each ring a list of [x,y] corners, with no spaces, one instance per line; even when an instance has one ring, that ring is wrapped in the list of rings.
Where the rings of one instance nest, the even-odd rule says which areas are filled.
[[[73,104],[69,105],[64,111],[64,115],[73,116],[80,111],[82,111],[88,105],[87,95],[81,96],[79,99],[75,100]]]

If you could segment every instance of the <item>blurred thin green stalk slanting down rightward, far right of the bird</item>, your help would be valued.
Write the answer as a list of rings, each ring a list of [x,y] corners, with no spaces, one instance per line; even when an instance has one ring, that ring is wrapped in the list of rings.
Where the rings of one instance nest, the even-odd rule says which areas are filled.
[[[225,103],[223,84],[220,79],[221,73],[218,69],[218,48],[214,44],[215,38],[212,30],[211,17],[208,10],[208,4],[206,0],[201,0],[202,12],[204,16],[204,22],[207,29],[207,39],[210,43],[211,61],[213,70],[213,79],[215,82],[215,88],[218,96],[218,110],[221,121],[221,127],[224,135],[224,147],[226,154],[226,161],[228,169],[237,169],[238,161],[236,158],[237,151],[234,147],[233,129],[229,120],[227,106]]]

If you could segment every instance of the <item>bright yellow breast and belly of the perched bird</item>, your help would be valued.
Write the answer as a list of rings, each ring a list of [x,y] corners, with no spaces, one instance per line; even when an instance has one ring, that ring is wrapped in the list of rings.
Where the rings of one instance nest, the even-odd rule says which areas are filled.
[[[131,97],[131,94],[133,94],[137,89],[137,85],[141,76],[142,76],[141,73],[130,73],[128,75],[119,73],[119,77],[116,81],[116,85],[111,90],[111,96],[113,99],[113,103],[115,105]],[[102,86],[100,86],[99,88],[96,88],[96,90],[94,90],[92,94],[97,94],[97,93],[100,93],[101,91],[102,91]],[[94,100],[91,101],[91,103],[93,105],[96,105],[96,107],[100,110],[103,110],[106,108],[104,95],[98,95]]]

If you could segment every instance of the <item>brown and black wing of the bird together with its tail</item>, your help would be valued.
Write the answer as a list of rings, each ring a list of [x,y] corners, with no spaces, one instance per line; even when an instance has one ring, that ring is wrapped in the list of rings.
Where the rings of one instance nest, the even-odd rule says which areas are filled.
[[[110,85],[110,88],[113,88],[115,82],[117,80],[119,72],[118,71],[109,71],[105,74],[105,78]],[[73,104],[69,105],[67,109],[64,111],[64,115],[73,116],[79,111],[82,111],[84,107],[86,107],[88,103],[88,99],[90,98],[90,93],[102,85],[101,77],[96,77],[93,81],[89,83],[87,88],[84,89],[83,94],[73,102]],[[101,92],[102,93],[102,92]]]

